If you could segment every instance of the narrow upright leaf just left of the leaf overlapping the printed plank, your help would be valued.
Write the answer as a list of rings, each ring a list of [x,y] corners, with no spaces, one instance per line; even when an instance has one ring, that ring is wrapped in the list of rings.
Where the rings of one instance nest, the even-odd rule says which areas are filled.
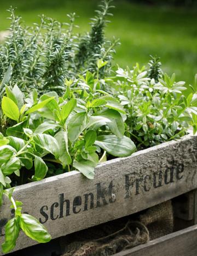
[[[69,165],[72,163],[72,158],[69,155],[68,152],[68,136],[67,132],[65,131],[59,131],[56,133],[55,138],[57,140],[57,143],[59,144],[60,148],[60,156],[59,159],[62,162],[63,168],[66,167],[66,165]]]

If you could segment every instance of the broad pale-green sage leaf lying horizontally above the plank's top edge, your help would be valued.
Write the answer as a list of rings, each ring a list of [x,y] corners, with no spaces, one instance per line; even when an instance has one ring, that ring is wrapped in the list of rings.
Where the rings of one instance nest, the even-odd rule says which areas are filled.
[[[128,157],[136,151],[136,146],[130,138],[118,138],[115,135],[97,136],[95,144],[114,157]]]

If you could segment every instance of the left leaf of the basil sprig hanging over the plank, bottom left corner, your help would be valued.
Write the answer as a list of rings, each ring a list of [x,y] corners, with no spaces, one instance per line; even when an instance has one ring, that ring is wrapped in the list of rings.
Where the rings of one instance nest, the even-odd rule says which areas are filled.
[[[16,240],[19,236],[19,216],[7,222],[5,225],[5,242],[2,244],[4,253],[8,253],[16,246]]]

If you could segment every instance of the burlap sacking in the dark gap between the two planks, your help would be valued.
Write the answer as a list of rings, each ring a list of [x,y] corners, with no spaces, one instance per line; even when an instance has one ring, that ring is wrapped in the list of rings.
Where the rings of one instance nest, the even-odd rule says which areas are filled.
[[[133,220],[127,217],[69,235],[61,245],[63,256],[109,256],[172,231],[172,205],[167,201]]]

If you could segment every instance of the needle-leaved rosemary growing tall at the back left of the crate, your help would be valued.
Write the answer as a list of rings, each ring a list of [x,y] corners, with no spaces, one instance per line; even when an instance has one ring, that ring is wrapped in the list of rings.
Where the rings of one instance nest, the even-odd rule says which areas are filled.
[[[104,36],[108,10],[112,8],[110,2],[102,1],[92,19],[91,31],[82,37],[73,33],[74,13],[67,15],[69,24],[42,15],[39,24],[27,27],[10,8],[10,34],[0,44],[0,95],[8,84],[17,84],[25,92],[37,88],[42,92],[63,93],[65,79],[76,80],[78,74],[87,70],[96,72],[98,58],[106,63],[100,67],[102,76],[109,73],[114,47],[118,44],[117,40],[110,42]]]

